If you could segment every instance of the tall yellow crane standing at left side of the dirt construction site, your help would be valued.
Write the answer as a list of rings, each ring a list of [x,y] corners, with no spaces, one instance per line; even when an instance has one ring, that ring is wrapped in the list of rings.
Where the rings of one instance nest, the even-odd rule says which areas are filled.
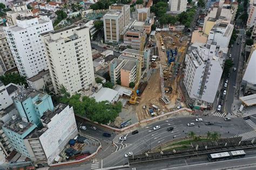
[[[144,37],[142,37],[140,41],[140,46],[139,46],[139,56],[138,56],[138,63],[137,63],[137,70],[136,70],[136,81],[135,81],[135,86],[134,89],[132,90],[132,95],[129,100],[130,104],[136,104],[137,103],[137,93],[138,93],[138,87],[139,87],[139,81],[140,77],[142,76],[142,60],[143,60],[143,49],[144,49]]]

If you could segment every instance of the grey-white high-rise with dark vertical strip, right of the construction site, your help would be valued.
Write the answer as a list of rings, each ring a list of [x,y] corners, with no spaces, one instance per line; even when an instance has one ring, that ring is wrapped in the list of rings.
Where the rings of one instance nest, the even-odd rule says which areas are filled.
[[[194,43],[186,55],[184,85],[188,103],[197,109],[211,108],[218,90],[228,48]]]

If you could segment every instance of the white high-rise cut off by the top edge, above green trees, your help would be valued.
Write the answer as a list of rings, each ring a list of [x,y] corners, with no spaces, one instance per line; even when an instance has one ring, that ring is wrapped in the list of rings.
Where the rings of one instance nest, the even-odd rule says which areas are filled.
[[[169,0],[169,10],[171,13],[181,13],[183,11],[186,11],[186,9],[186,0]]]

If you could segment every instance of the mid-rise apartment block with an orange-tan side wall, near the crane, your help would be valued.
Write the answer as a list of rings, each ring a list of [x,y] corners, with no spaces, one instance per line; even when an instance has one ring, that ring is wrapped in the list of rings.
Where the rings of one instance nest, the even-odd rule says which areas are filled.
[[[131,82],[136,81],[136,61],[128,60],[120,70],[121,86],[129,87]]]

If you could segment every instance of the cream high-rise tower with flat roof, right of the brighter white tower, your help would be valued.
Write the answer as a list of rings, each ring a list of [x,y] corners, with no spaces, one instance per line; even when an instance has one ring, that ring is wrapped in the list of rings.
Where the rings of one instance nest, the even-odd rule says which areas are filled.
[[[95,84],[88,27],[71,25],[42,36],[55,93],[62,85],[75,94]]]

